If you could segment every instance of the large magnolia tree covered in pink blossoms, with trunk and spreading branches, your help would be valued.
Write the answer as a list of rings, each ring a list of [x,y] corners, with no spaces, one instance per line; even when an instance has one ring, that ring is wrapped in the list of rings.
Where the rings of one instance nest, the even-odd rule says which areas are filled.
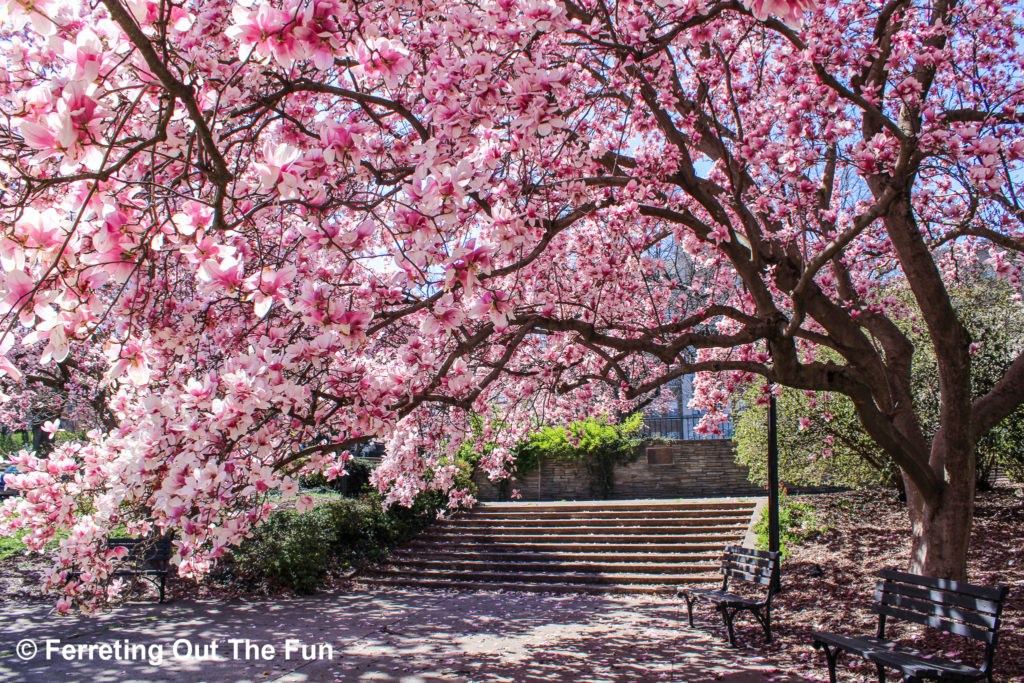
[[[117,594],[120,524],[202,573],[358,440],[409,503],[452,488],[470,413],[500,476],[539,414],[692,372],[711,419],[758,375],[849,396],[903,473],[910,568],[964,574],[975,443],[1024,399],[1022,357],[971,399],[946,289],[1020,286],[1013,3],[5,2],[0,351],[104,353],[117,421],[23,455],[5,503],[34,548],[70,530],[61,606]]]

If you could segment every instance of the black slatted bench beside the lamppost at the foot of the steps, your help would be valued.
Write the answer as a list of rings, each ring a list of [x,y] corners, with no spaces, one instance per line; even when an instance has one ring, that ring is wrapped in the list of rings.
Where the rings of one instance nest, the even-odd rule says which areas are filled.
[[[722,620],[729,632],[729,644],[736,646],[736,636],[732,630],[732,620],[736,612],[749,611],[757,617],[765,631],[765,639],[771,642],[771,599],[776,592],[779,577],[779,553],[752,550],[742,546],[729,546],[722,557],[721,590],[683,588],[676,597],[686,600],[686,617],[693,626],[693,603],[706,600],[722,612]],[[729,591],[729,581],[733,582],[733,592]],[[763,594],[749,597],[735,593],[736,583],[760,584]]]

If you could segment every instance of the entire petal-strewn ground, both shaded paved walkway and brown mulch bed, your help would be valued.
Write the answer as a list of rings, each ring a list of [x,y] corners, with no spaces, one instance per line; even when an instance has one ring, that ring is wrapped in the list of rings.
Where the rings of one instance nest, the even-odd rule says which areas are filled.
[[[214,599],[197,597],[201,592],[196,587],[175,582],[175,599],[167,605],[143,602],[94,618],[55,617],[51,601],[32,594],[38,565],[17,558],[7,560],[0,571],[0,679],[827,680],[807,633],[873,631],[872,574],[905,564],[908,523],[895,497],[879,492],[795,500],[812,504],[813,526],[824,530],[797,546],[785,565],[785,591],[774,614],[777,638],[770,645],[762,643],[760,629],[743,622],[741,647],[731,649],[723,642],[717,617],[703,611],[698,628],[688,629],[678,603],[669,598],[372,592],[344,584],[313,597]],[[971,552],[972,581],[1012,588],[996,680],[1024,680],[1024,507],[1019,488],[979,497]],[[964,648],[962,639],[922,637],[912,629],[896,633],[916,635],[918,646],[932,651],[958,656]],[[28,660],[17,649],[26,639],[38,648]],[[46,639],[51,639],[48,659]],[[211,653],[214,642],[213,660],[177,656],[187,654],[189,647]],[[104,660],[101,646],[118,643],[121,660],[117,652]],[[144,646],[146,656],[125,656],[125,643]],[[330,645],[330,652],[313,650],[322,644]],[[68,650],[70,656],[66,645],[75,646]],[[272,655],[262,649],[267,645],[273,647]],[[153,653],[162,660],[151,663]],[[841,680],[868,680],[871,675],[867,669],[845,668]]]

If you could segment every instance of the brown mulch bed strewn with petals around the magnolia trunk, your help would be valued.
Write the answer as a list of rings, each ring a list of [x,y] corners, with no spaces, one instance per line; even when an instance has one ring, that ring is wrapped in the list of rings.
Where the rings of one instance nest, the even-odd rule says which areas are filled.
[[[978,495],[971,536],[968,581],[1010,587],[995,658],[995,680],[1024,681],[1024,498],[1021,488]],[[909,558],[910,524],[906,508],[888,492],[848,492],[793,496],[809,503],[818,526],[794,547],[783,565],[783,593],[773,604],[777,638],[760,653],[779,672],[827,680],[824,655],[814,650],[808,634],[833,631],[874,635],[878,617],[870,611],[874,573],[904,569]],[[891,627],[890,627],[891,625]],[[898,626],[897,626],[898,625]],[[758,643],[757,630],[744,641]],[[933,630],[890,621],[887,637],[919,649],[980,664],[974,641],[936,635]],[[853,665],[853,666],[851,666]],[[895,678],[896,672],[888,672]],[[873,666],[854,657],[841,659],[843,681],[878,680]]]

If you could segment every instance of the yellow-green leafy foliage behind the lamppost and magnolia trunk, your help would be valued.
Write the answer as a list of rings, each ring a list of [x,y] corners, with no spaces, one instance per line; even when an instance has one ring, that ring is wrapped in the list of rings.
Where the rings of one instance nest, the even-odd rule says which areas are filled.
[[[912,295],[897,288],[894,295],[908,307]],[[991,274],[967,278],[951,289],[953,305],[972,339],[972,394],[985,395],[1006,375],[1024,348],[1024,305],[1012,288]],[[926,434],[939,428],[938,368],[933,345],[912,311],[901,324],[913,340],[913,401]],[[748,387],[733,412],[736,458],[751,468],[751,481],[767,483],[767,387]],[[777,391],[779,472],[783,481],[798,485],[869,486],[900,484],[895,463],[879,447],[857,419],[849,398],[842,394]],[[1011,476],[1024,474],[1024,408],[1007,416],[977,446],[976,485],[988,485],[994,468]]]

